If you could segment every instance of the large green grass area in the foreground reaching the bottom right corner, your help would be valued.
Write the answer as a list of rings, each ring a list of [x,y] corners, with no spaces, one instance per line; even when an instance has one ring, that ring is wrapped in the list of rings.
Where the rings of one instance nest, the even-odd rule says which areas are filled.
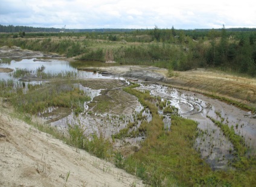
[[[239,156],[234,169],[212,171],[194,149],[197,136],[197,124],[192,120],[171,116],[171,130],[164,130],[158,109],[152,104],[149,93],[125,88],[135,94],[140,102],[150,108],[152,121],[146,125],[147,138],[141,149],[125,158],[121,167],[135,173],[152,186],[254,186],[255,158]],[[232,134],[232,130],[230,130]],[[231,135],[234,136],[234,135]],[[240,152],[245,146],[242,144]]]

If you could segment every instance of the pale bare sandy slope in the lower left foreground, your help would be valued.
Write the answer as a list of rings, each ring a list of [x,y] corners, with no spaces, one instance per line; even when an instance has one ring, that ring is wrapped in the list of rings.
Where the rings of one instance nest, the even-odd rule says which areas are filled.
[[[142,186],[113,164],[12,118],[2,106],[0,137],[0,186]]]

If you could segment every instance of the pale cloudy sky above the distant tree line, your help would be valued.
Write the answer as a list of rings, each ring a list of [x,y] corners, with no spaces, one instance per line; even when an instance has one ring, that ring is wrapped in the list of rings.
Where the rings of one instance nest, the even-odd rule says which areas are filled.
[[[256,1],[0,0],[0,24],[68,29],[256,28]]]

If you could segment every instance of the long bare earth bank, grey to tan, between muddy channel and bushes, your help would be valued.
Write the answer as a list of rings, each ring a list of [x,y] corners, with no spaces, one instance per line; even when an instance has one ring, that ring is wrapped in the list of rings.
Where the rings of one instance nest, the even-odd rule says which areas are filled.
[[[254,78],[242,78],[206,69],[174,72],[171,78],[167,78],[167,69],[156,67],[118,66],[102,67],[100,70],[132,80],[158,82],[197,93],[223,96],[256,107],[256,79]]]

